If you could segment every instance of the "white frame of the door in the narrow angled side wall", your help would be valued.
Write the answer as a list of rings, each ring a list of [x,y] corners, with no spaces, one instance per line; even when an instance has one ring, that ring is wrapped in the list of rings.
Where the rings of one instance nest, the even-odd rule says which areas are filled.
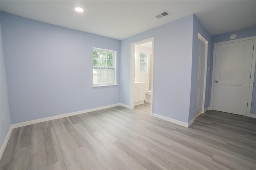
[[[206,76],[207,76],[207,59],[208,59],[208,41],[199,33],[197,36],[204,41],[205,43],[205,56],[204,56],[204,89],[203,89],[203,98],[202,98],[202,111],[201,113],[205,113],[204,105],[205,105],[205,91],[206,91]],[[198,57],[198,56],[196,56]],[[207,109],[206,109],[207,110]]]

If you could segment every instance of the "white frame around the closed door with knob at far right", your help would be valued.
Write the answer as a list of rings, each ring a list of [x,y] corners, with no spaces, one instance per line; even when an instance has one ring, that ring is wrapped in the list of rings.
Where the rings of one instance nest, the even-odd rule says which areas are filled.
[[[252,40],[254,39],[254,50],[252,51],[252,67],[251,67],[251,79],[250,79],[250,84],[254,83],[254,74],[255,74],[255,65],[256,65],[256,36],[252,37],[247,37],[247,38],[240,38],[237,40],[230,40],[230,41],[225,41],[225,42],[218,42],[214,43],[213,47],[213,60],[212,60],[212,89],[211,89],[211,101],[210,101],[210,107],[209,110],[212,110],[212,103],[213,103],[213,87],[214,87],[214,78],[215,78],[215,61],[216,61],[216,46],[225,44],[225,43],[234,43],[234,42],[241,42],[241,41],[246,41],[246,40]],[[247,117],[255,117],[252,115],[251,112],[251,106],[252,106],[252,90],[253,90],[253,85],[250,85],[249,87],[249,96],[248,96],[248,107],[246,110],[246,116]]]

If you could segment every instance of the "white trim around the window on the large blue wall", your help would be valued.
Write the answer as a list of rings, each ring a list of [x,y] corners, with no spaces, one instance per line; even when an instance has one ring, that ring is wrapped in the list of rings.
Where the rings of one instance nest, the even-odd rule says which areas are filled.
[[[97,48],[97,47],[93,47],[92,51],[94,50],[99,50],[99,51],[106,51],[106,52],[112,52],[114,53],[114,58],[113,58],[113,66],[114,66],[114,83],[108,83],[108,84],[93,84],[92,82],[92,87],[105,87],[105,86],[115,86],[117,85],[116,83],[116,51],[114,50],[110,50],[110,49],[103,49],[103,48]],[[106,67],[108,68],[108,67]],[[93,69],[93,65],[92,65],[92,69]],[[92,78],[93,78],[93,74],[92,74]]]

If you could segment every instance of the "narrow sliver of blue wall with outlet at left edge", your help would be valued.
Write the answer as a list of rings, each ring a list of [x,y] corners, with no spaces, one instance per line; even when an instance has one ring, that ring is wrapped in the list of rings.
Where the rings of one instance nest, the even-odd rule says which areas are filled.
[[[8,102],[8,89],[7,89],[7,84],[6,84],[6,74],[5,74],[5,66],[4,66],[4,50],[3,50],[3,43],[2,43],[2,30],[0,30],[1,32],[1,59],[0,59],[0,66],[1,66],[1,83],[0,83],[0,96],[1,96],[1,100],[0,100],[0,138],[1,138],[1,147],[2,144],[4,143],[4,140],[6,138],[6,135],[10,129],[11,126],[11,119],[10,119],[10,111],[9,111],[9,102]],[[3,122],[2,119],[2,113],[5,114],[5,119]]]

